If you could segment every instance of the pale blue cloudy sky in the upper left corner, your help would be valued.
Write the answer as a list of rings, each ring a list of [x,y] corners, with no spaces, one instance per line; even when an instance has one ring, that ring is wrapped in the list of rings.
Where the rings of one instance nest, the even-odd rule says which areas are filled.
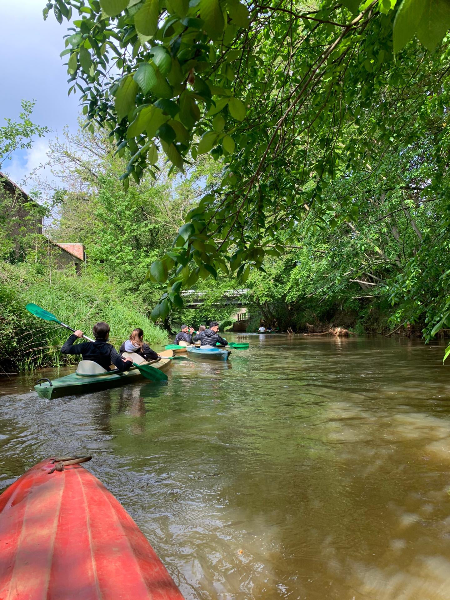
[[[46,161],[49,140],[61,135],[65,125],[75,133],[80,113],[79,96],[67,96],[67,57],[59,57],[68,23],[59,25],[52,11],[44,21],[45,5],[46,0],[0,0],[0,124],[4,118],[18,118],[22,99],[35,100],[32,121],[52,130],[3,163],[2,170],[27,191],[33,186],[24,179]]]

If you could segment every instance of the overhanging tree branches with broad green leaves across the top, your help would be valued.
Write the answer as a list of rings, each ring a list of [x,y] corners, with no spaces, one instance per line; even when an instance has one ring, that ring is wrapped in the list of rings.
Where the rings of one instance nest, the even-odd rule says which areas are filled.
[[[335,202],[329,220],[350,223],[358,202],[335,194],[337,182],[368,166],[371,181],[389,143],[406,152],[448,79],[446,40],[433,52],[450,25],[446,0],[323,0],[312,10],[287,0],[58,0],[44,16],[50,8],[59,22],[80,14],[62,53],[70,91],[81,92],[89,127],[109,128],[119,154],[130,152],[125,184],[152,170],[155,149],[174,170],[206,152],[223,167],[150,269],[167,281],[154,318],[207,273],[245,281],[298,221],[324,226]],[[420,43],[409,43],[415,34]]]

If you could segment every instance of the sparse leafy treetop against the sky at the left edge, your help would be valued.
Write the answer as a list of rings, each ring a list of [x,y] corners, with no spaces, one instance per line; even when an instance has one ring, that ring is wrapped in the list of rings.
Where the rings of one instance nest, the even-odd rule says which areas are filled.
[[[48,127],[35,125],[31,121],[34,102],[22,100],[22,112],[19,113],[19,121],[5,118],[6,125],[0,127],[0,169],[8,158],[11,158],[16,150],[31,148],[34,136],[43,137],[49,133]]]

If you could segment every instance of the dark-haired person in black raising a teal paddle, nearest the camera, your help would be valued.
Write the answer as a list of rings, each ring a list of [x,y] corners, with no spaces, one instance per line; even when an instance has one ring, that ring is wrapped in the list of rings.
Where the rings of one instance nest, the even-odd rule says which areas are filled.
[[[115,347],[108,343],[109,325],[103,321],[95,323],[92,328],[95,341],[85,341],[82,344],[73,345],[77,338],[83,337],[83,332],[77,329],[67,342],[62,346],[62,354],[80,354],[85,361],[97,362],[100,367],[109,371],[111,363],[119,371],[128,371],[133,366],[133,361],[124,361]]]

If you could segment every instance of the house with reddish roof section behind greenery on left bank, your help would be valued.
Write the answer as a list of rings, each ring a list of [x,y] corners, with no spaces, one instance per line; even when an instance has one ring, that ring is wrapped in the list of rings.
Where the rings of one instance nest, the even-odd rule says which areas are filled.
[[[44,247],[46,256],[57,269],[73,265],[80,272],[82,263],[86,262],[83,244],[53,242],[43,235],[43,218],[43,207],[0,172],[0,227],[5,234],[4,256],[8,254],[11,262],[20,262],[35,252],[37,260],[37,247]]]

